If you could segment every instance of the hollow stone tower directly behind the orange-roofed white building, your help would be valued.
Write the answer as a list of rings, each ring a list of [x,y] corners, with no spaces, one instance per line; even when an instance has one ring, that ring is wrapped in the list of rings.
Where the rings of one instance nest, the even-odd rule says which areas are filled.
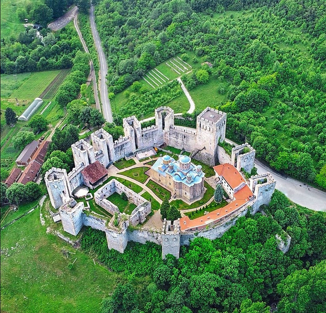
[[[241,146],[232,148],[231,163],[238,171],[244,168],[246,172],[250,173],[254,167],[255,155],[256,150],[246,142]]]

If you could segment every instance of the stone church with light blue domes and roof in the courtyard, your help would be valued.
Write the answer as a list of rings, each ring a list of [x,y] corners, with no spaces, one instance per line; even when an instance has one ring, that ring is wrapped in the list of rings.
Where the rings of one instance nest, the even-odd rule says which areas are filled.
[[[169,155],[158,158],[149,170],[152,180],[171,191],[172,196],[192,202],[204,195],[204,176],[201,165],[191,163],[187,155],[176,161]]]

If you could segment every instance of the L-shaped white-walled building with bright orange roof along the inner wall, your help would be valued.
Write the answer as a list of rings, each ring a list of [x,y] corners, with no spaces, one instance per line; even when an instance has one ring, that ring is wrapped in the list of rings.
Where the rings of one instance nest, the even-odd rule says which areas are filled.
[[[199,230],[207,226],[212,226],[230,214],[246,206],[253,198],[254,194],[250,190],[246,180],[241,173],[229,163],[220,164],[213,167],[216,177],[230,195],[231,201],[223,208],[212,211],[204,216],[191,220],[188,216],[180,219],[180,230]]]

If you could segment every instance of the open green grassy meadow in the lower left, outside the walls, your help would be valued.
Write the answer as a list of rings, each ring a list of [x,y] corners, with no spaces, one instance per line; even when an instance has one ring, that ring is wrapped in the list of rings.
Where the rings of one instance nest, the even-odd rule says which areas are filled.
[[[39,215],[37,209],[1,230],[1,312],[100,312],[103,298],[127,277],[47,234]],[[76,254],[67,258],[62,248]],[[132,284],[141,293],[148,277],[133,277]]]

